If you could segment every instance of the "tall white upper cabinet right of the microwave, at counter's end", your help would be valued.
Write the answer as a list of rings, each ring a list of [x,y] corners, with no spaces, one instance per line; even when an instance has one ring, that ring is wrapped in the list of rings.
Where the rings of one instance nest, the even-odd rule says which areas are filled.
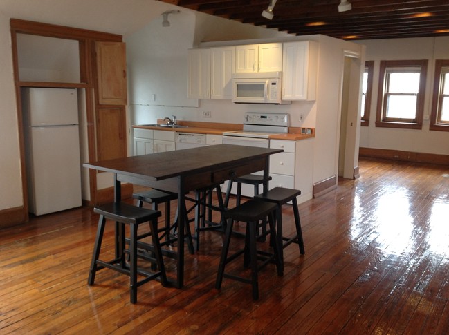
[[[282,55],[282,99],[314,100],[318,44],[313,41],[284,43]]]

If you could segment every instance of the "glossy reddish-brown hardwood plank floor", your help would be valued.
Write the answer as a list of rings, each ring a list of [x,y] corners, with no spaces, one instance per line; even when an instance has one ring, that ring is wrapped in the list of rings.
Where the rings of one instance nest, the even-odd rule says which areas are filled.
[[[0,334],[448,334],[448,166],[361,160],[358,180],[339,180],[300,215],[306,255],[287,247],[282,277],[268,265],[257,302],[243,283],[214,289],[216,232],[186,253],[183,289],[150,282],[131,305],[124,275],[102,270],[86,283],[91,209],[4,229]],[[284,232],[292,219],[285,207]]]

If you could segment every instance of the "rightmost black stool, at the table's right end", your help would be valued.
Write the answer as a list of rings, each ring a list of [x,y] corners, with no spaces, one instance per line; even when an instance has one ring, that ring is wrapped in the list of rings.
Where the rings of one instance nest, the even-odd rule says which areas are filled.
[[[281,245],[280,249],[280,258],[282,263],[284,263],[284,252],[283,249],[290,245],[291,243],[297,243],[300,247],[300,253],[304,255],[304,241],[302,240],[302,229],[301,229],[301,221],[300,221],[300,212],[297,209],[297,200],[296,197],[301,194],[300,190],[296,189],[285,189],[283,187],[275,187],[274,189],[269,190],[266,195],[259,194],[256,195],[255,198],[259,200],[263,200],[266,202],[271,202],[277,205],[276,211],[276,227],[277,227],[277,239],[278,245]],[[287,202],[292,202],[293,205],[293,215],[295,216],[295,227],[296,234],[290,238],[284,237],[282,235],[282,205]]]

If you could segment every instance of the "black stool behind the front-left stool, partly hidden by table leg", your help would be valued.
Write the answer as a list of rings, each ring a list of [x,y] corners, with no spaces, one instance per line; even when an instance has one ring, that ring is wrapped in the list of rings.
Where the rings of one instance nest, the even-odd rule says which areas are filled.
[[[178,195],[176,193],[169,193],[165,191],[160,191],[158,189],[150,189],[148,191],[133,193],[132,197],[137,200],[138,207],[143,207],[143,203],[147,202],[152,204],[152,209],[155,211],[158,210],[159,204],[165,203],[165,227],[158,229],[158,232],[163,231],[161,238],[165,237],[165,241],[161,242],[161,245],[169,245],[176,240],[176,236],[170,235],[170,231],[173,233],[176,231],[177,225],[177,216],[178,212],[176,212],[176,217],[174,223],[170,223],[170,202],[172,200],[178,200]],[[150,236],[151,233],[144,233],[138,236],[138,239],[145,238]],[[185,225],[185,236],[187,238],[187,247],[189,248],[190,253],[194,253],[192,234],[190,233],[190,227]]]

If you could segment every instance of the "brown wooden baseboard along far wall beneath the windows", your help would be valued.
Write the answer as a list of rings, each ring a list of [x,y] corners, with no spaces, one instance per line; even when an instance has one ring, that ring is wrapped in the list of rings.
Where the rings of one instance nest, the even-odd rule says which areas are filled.
[[[359,156],[384,158],[387,160],[402,160],[406,162],[449,165],[449,155],[437,155],[434,153],[414,153],[411,151],[360,147]]]

